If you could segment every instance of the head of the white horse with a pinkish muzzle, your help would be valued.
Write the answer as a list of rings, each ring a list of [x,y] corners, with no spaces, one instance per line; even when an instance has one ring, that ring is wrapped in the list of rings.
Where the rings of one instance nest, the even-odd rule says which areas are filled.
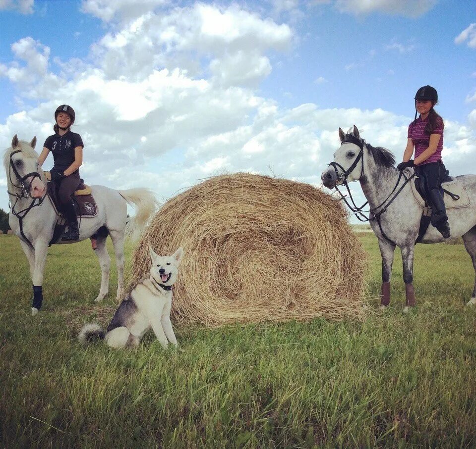
[[[4,166],[11,188],[28,194],[31,198],[42,198],[46,186],[38,171],[38,154],[34,150],[36,137],[31,142],[18,140],[17,135],[11,141],[11,147],[5,151]],[[9,188],[10,188],[9,185]]]

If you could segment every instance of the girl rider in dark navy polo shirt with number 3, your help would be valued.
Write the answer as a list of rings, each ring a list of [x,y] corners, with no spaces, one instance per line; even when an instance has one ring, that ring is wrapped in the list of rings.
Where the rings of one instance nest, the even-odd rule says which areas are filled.
[[[74,123],[74,109],[67,104],[61,104],[55,111],[55,134],[48,137],[43,150],[38,157],[41,167],[50,151],[53,153],[54,166],[51,169],[51,180],[56,182],[60,207],[68,222],[68,230],[61,240],[79,240],[78,219],[74,210],[71,195],[77,190],[81,179],[79,167],[83,163],[83,141],[79,134],[73,133],[70,127]]]

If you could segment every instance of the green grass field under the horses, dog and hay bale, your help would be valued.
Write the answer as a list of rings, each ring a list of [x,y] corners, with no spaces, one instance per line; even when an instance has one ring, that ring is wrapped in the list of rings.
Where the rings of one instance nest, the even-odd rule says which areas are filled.
[[[417,307],[403,314],[398,253],[380,311],[377,242],[359,239],[373,298],[363,322],[178,328],[178,350],[148,335],[114,351],[75,340],[115,309],[114,272],[110,297],[92,302],[100,270],[89,242],[50,249],[32,317],[26,258],[0,235],[1,447],[475,448],[469,256],[461,244],[419,245]]]

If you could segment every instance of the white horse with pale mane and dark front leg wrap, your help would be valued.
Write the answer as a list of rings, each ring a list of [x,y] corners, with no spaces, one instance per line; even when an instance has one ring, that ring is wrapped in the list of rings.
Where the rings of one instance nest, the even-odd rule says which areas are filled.
[[[46,179],[38,168],[38,153],[34,150],[36,137],[28,143],[13,137],[11,147],[5,150],[3,164],[6,171],[10,214],[8,223],[20,239],[20,245],[30,264],[33,282],[32,314],[36,315],[43,301],[43,272],[48,246],[58,222],[57,214],[47,195]],[[157,200],[149,189],[117,191],[104,186],[91,186],[98,213],[81,219],[80,240],[93,236],[105,227],[113,241],[118,267],[117,299],[121,297],[124,272],[124,238],[136,238],[143,231],[157,209]],[[136,208],[135,216],[128,222],[127,203]],[[109,293],[111,258],[106,248],[108,233],[97,237],[96,255],[101,266],[101,289],[95,301]],[[72,242],[62,242],[72,243]]]

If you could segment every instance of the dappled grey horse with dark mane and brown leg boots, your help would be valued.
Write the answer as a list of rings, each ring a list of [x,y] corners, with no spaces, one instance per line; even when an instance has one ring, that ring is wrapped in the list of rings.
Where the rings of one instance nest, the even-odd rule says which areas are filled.
[[[382,255],[381,305],[386,306],[390,302],[393,256],[395,246],[398,246],[402,250],[407,298],[404,310],[408,311],[408,307],[415,305],[413,259],[422,214],[422,209],[411,192],[410,183],[406,182],[414,170],[409,168],[403,174],[405,176],[400,176],[400,172],[394,167],[394,155],[384,148],[374,148],[366,144],[360,138],[355,125],[353,131],[348,134],[339,128],[339,137],[341,147],[334,153],[334,162],[322,172],[322,182],[329,189],[346,182],[360,182],[370,207],[370,226],[378,238]],[[451,237],[463,237],[476,271],[476,175],[457,176],[456,179],[465,186],[471,202],[467,207],[447,210]],[[438,243],[444,240],[436,228],[429,226],[421,243]],[[472,298],[467,304],[475,303],[476,278]]]

